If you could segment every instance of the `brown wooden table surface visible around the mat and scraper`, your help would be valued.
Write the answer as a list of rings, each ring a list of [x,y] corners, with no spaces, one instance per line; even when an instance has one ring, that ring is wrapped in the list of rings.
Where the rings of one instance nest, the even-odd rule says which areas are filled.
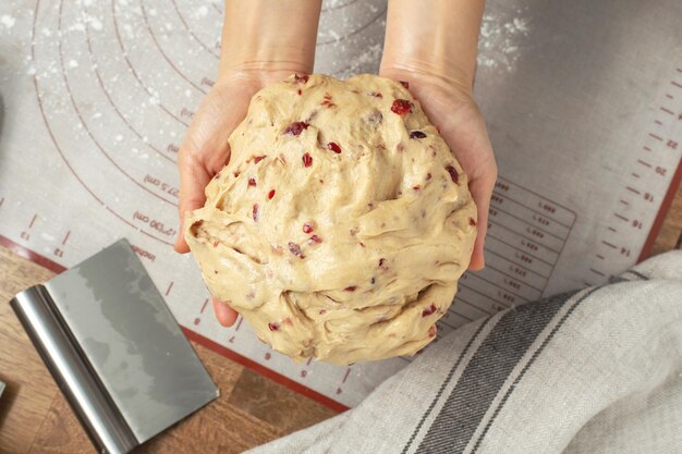
[[[653,254],[680,248],[682,187]],[[0,453],[95,452],[7,302],[53,273],[0,247]],[[220,397],[135,453],[239,453],[321,421],[336,412],[193,343]]]

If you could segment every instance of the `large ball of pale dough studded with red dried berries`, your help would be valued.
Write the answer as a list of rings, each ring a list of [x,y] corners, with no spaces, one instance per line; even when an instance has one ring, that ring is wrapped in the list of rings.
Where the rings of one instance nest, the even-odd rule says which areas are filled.
[[[211,294],[272,348],[412,355],[468,266],[466,176],[400,83],[295,75],[257,93],[185,237]]]

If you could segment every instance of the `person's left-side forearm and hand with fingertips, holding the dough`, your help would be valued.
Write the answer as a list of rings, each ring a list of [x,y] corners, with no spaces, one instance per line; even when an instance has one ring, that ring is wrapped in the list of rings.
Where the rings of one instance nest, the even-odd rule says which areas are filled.
[[[321,0],[226,0],[218,82],[206,95],[180,147],[180,234],[175,250],[190,247],[183,222],[204,206],[204,189],[230,160],[228,137],[246,116],[251,98],[264,86],[294,73],[309,73]],[[239,314],[214,298],[220,324]]]

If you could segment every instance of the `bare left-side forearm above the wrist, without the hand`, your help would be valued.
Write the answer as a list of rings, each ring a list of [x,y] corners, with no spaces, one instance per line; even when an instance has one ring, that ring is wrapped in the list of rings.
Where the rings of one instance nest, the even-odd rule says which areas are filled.
[[[220,76],[312,72],[321,0],[226,0]]]

